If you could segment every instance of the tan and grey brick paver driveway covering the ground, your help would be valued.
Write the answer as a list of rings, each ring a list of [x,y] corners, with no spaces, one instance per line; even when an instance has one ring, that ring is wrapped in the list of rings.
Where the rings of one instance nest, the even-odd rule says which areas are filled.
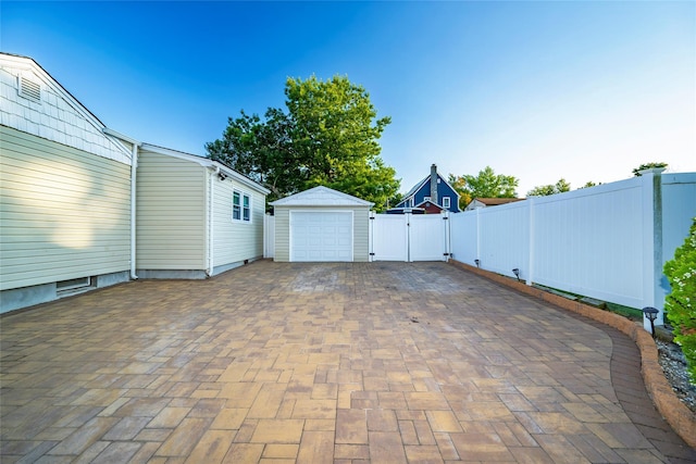
[[[1,324],[3,463],[668,462],[604,330],[444,263],[263,261]]]

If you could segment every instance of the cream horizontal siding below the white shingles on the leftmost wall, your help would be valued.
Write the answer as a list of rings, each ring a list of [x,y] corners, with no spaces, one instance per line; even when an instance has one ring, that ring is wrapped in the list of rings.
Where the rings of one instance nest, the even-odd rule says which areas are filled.
[[[0,288],[127,271],[130,167],[0,126]]]

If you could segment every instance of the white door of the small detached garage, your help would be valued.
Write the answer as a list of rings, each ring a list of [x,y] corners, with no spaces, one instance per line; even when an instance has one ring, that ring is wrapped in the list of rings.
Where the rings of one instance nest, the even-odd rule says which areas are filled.
[[[352,212],[291,211],[290,261],[352,261]]]

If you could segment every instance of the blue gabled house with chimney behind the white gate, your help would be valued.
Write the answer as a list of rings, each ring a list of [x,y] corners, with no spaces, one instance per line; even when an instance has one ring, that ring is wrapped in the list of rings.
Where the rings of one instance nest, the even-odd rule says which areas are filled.
[[[437,166],[433,164],[430,176],[415,184],[403,200],[387,210],[387,214],[437,214],[443,210],[459,213],[459,193],[437,174]]]

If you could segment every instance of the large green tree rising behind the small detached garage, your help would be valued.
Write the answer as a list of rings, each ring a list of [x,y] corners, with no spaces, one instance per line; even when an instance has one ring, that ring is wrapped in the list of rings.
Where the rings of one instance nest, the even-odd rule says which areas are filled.
[[[347,77],[288,78],[285,96],[287,112],[231,117],[208,155],[269,188],[269,201],[323,185],[382,210],[400,184],[380,156],[390,118],[377,118],[369,93]]]

